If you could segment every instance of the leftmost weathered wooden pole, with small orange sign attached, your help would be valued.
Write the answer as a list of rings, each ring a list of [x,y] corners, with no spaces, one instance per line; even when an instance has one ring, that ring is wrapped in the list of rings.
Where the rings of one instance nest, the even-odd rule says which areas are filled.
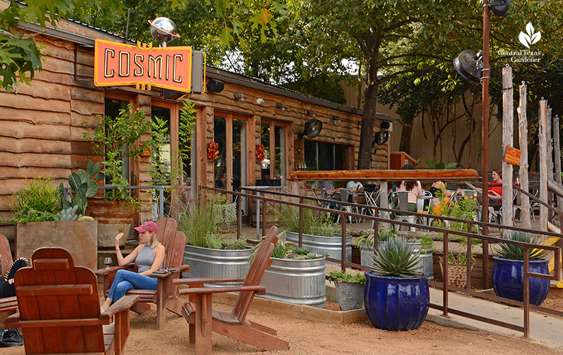
[[[502,154],[506,154],[507,147],[514,144],[514,104],[512,102],[514,89],[512,89],[512,68],[502,68]],[[502,161],[502,224],[514,225],[512,220],[512,164]],[[509,231],[503,231],[505,235]]]

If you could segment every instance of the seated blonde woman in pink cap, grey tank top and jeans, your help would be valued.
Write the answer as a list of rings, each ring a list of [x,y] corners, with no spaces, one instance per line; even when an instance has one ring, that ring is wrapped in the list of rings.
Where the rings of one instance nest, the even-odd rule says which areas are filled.
[[[115,250],[120,266],[134,261],[139,271],[134,273],[128,270],[118,270],[115,279],[113,279],[108,298],[101,306],[102,313],[111,306],[113,301],[125,296],[129,289],[156,290],[157,280],[151,278],[151,275],[162,266],[165,254],[163,244],[160,244],[156,239],[158,226],[149,220],[139,225],[135,230],[139,232],[139,246],[124,258],[119,248],[119,239],[123,237],[123,233],[120,233],[115,236]]]

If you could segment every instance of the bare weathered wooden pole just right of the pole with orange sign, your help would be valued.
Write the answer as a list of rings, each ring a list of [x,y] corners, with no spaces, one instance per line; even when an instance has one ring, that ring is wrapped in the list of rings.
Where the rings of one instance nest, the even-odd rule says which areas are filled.
[[[520,106],[518,108],[518,126],[520,132],[520,187],[529,191],[528,183],[528,118],[526,117],[526,84],[520,85]],[[522,228],[531,229],[530,221],[530,198],[521,194],[521,220]]]

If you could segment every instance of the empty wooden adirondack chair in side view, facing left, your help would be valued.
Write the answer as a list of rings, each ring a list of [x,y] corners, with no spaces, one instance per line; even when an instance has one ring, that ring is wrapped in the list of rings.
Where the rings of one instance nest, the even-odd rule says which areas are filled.
[[[189,285],[180,289],[180,294],[195,296],[194,303],[182,307],[184,318],[189,323],[189,342],[196,345],[196,355],[211,354],[211,332],[218,332],[227,337],[246,342],[264,350],[289,349],[289,342],[279,339],[277,331],[265,325],[246,319],[255,294],[265,294],[266,287],[260,285],[266,267],[270,265],[270,256],[277,242],[277,227],[270,228],[258,249],[255,251],[251,267],[246,278],[193,278],[175,280],[177,285]],[[203,283],[240,282],[237,287],[203,287]],[[195,288],[194,288],[195,287]],[[239,292],[233,310],[230,312],[213,311],[211,295],[218,292]]]

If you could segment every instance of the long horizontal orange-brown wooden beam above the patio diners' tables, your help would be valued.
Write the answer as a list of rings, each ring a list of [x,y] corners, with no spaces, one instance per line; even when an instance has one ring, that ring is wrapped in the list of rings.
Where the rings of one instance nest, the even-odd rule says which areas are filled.
[[[323,170],[294,171],[289,180],[320,181],[464,181],[479,180],[473,169],[419,169],[419,170]]]

